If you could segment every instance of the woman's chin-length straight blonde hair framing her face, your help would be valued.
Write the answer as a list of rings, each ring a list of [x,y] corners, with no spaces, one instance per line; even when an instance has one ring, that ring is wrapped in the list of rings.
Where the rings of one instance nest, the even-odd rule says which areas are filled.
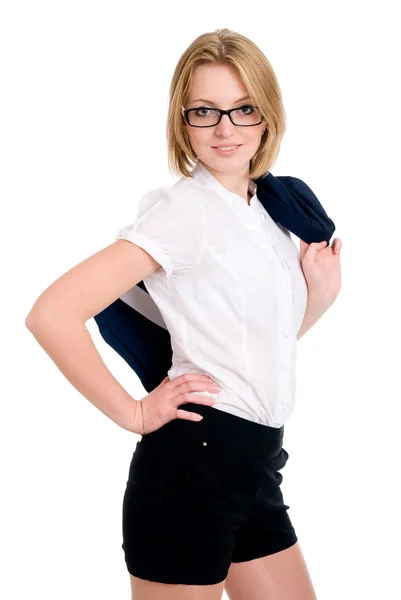
[[[184,128],[181,106],[185,106],[192,74],[201,64],[223,64],[237,69],[252,101],[259,107],[267,127],[250,161],[249,177],[267,175],[277,160],[286,130],[286,114],[273,67],[260,48],[245,36],[229,29],[216,29],[197,37],[181,55],[169,90],[167,117],[168,167],[178,177],[191,177],[199,161]]]

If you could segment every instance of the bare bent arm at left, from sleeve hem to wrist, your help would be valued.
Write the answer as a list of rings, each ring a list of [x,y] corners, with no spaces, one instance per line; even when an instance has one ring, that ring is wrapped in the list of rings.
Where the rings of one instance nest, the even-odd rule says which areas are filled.
[[[133,433],[142,430],[139,402],[106,367],[85,323],[159,267],[142,248],[117,240],[50,285],[25,320],[75,389],[117,425]]]

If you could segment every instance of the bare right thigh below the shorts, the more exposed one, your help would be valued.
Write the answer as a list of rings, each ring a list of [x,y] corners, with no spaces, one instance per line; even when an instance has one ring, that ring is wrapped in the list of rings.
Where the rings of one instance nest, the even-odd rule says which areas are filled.
[[[268,556],[232,563],[225,590],[230,600],[316,600],[298,542]]]

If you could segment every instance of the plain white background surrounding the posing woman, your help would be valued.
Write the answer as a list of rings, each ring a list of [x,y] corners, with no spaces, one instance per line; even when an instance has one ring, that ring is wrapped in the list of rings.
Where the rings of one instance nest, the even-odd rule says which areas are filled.
[[[396,6],[2,3],[3,598],[130,597],[121,503],[137,436],[68,382],[24,321],[48,285],[134,220],[144,193],[174,182],[170,79],[192,40],[219,27],[272,63],[288,118],[273,174],[303,179],[343,241],[341,293],[298,342],[289,514],[319,600],[401,597]],[[87,325],[112,373],[143,397]]]

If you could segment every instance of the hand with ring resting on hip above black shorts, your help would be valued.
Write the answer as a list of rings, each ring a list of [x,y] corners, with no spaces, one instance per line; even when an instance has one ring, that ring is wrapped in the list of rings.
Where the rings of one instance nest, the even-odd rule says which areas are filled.
[[[207,375],[199,373],[183,373],[170,381],[167,376],[163,381],[141,400],[135,400],[135,431],[143,434],[143,427],[146,433],[151,433],[159,429],[173,419],[186,419],[187,421],[200,421],[198,413],[189,412],[177,408],[181,404],[188,402],[214,404],[214,398],[208,396],[199,396],[192,392],[210,392],[218,393],[220,387],[216,386],[213,380]],[[141,407],[143,408],[143,426],[141,419]]]

